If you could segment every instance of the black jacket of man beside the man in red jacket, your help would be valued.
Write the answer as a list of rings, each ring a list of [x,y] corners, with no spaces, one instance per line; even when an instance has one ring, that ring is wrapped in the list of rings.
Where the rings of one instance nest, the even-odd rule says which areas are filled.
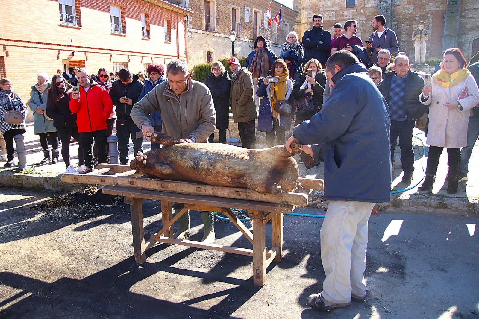
[[[121,117],[126,118],[129,117],[129,121],[131,121],[130,112],[138,102],[138,97],[143,90],[143,82],[138,80],[138,76],[136,74],[133,75],[133,82],[128,85],[122,83],[122,81],[114,81],[112,88],[110,89],[110,97],[112,98],[113,105],[116,105],[116,116],[118,119]],[[120,97],[126,96],[128,99],[131,99],[133,103],[131,105],[120,103]]]

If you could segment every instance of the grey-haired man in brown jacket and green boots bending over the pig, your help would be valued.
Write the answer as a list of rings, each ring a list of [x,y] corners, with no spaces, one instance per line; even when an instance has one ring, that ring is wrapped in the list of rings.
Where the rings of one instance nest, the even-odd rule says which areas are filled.
[[[145,137],[150,137],[155,129],[148,114],[160,111],[162,133],[182,138],[188,143],[207,143],[207,138],[216,128],[216,112],[208,87],[191,78],[188,64],[183,60],[173,60],[166,67],[167,81],[155,86],[131,110],[131,118]],[[175,209],[181,209],[175,207]],[[213,213],[201,212],[205,225],[202,241],[213,243]],[[190,216],[185,213],[178,219],[176,238],[190,235]]]

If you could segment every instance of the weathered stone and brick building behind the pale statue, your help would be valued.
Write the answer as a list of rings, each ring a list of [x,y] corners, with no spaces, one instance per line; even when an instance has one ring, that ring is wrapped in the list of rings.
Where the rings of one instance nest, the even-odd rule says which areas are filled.
[[[358,22],[357,34],[363,41],[373,32],[371,23],[376,14],[384,14],[386,26],[398,35],[399,51],[414,59],[414,42],[411,40],[419,21],[429,26],[426,59],[441,57],[450,47],[459,47],[469,59],[479,50],[478,0],[295,0],[300,11],[296,21],[298,34],[312,26],[314,13],[323,15],[325,29],[334,23],[354,19]],[[461,26],[461,27],[459,27]]]

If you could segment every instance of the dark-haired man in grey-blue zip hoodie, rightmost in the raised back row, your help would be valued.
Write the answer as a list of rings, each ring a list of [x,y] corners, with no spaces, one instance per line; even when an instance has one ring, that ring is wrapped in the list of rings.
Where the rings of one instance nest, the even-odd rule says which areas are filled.
[[[386,18],[378,14],[373,19],[373,34],[369,36],[369,43],[366,42],[366,51],[371,53],[368,68],[377,63],[377,53],[382,49],[387,49],[391,53],[399,51],[398,37],[396,33],[389,28],[385,28]]]

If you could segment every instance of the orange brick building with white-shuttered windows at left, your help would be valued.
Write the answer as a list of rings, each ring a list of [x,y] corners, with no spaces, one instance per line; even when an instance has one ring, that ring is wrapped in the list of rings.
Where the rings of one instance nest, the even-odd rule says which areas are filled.
[[[1,77],[25,101],[39,72],[86,67],[137,73],[186,58],[185,15],[164,0],[10,0],[2,3]]]

